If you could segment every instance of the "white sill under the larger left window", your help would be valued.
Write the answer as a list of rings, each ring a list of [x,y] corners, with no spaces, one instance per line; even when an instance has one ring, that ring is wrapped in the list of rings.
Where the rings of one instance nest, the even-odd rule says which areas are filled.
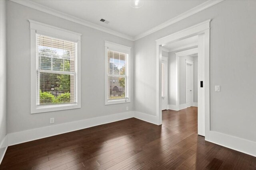
[[[36,106],[31,108],[31,114],[43,113],[50,111],[68,110],[68,109],[78,109],[81,108],[80,104],[59,104],[59,105],[48,105],[48,106]]]

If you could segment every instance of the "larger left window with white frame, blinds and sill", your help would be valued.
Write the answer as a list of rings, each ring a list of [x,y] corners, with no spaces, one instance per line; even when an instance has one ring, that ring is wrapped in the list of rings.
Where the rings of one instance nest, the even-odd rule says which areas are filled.
[[[81,108],[81,35],[30,22],[30,111]]]

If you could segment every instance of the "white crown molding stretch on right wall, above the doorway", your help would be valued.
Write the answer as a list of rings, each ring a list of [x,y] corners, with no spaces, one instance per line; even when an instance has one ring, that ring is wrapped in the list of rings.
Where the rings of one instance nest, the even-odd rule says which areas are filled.
[[[194,14],[196,14],[196,13],[202,11],[202,10],[210,8],[211,6],[214,6],[214,5],[216,5],[216,4],[218,4],[218,3],[222,2],[222,1],[223,0],[208,0],[208,1],[198,5],[196,7],[194,7],[192,9],[190,9],[190,10],[188,10],[188,11],[186,11],[186,12],[184,12],[184,13],[182,13],[182,14],[180,14],[180,15],[178,15],[178,16],[176,16],[176,17],[174,17],[174,18],[172,18],[172,19],[170,19],[170,20],[168,20],[166,22],[164,22],[164,23],[161,23],[160,25],[158,25],[156,27],[153,27],[152,29],[149,29],[148,31],[145,31],[144,33],[136,35],[134,37],[134,41],[136,41],[138,39],[141,39],[141,38],[143,38],[143,37],[145,37],[147,35],[150,35],[150,34],[156,32],[156,31],[159,31],[160,29],[168,27],[169,25],[172,25],[172,24],[174,24],[174,23],[176,23],[176,22],[178,22],[180,20],[188,18],[189,16],[192,16],[192,15],[194,15]]]

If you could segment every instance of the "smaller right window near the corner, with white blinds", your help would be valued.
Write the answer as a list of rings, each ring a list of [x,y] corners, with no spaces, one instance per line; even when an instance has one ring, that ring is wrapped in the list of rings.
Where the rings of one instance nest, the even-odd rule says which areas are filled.
[[[129,49],[130,50],[130,49]],[[106,101],[108,104],[129,100],[129,54],[115,48],[106,49]],[[122,102],[116,102],[116,101]]]

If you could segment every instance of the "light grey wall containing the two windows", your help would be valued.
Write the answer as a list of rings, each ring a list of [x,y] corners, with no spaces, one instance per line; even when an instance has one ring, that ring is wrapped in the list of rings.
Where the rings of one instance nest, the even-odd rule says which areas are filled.
[[[30,114],[30,29],[28,19],[54,25],[78,33],[81,40],[81,109]],[[56,125],[134,109],[133,64],[131,64],[131,103],[105,106],[105,47],[111,41],[132,47],[133,42],[34,10],[14,2],[7,2],[7,129],[8,133]]]

